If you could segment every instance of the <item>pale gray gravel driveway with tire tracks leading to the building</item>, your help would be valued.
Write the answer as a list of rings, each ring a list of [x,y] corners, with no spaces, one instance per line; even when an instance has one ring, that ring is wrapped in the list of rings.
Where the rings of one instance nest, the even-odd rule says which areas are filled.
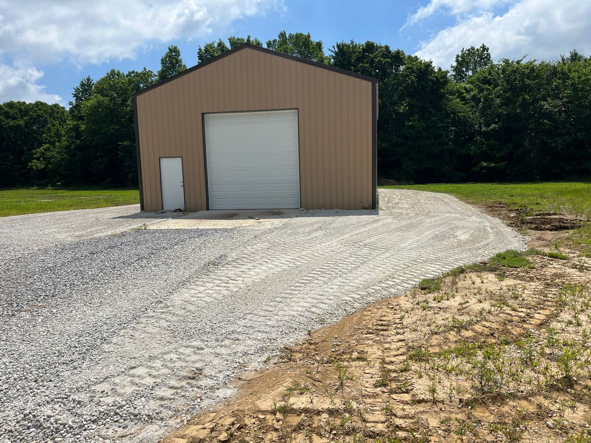
[[[136,207],[0,219],[0,435],[157,441],[307,329],[525,247],[443,194],[381,190],[379,205],[114,236],[100,234],[160,220]]]

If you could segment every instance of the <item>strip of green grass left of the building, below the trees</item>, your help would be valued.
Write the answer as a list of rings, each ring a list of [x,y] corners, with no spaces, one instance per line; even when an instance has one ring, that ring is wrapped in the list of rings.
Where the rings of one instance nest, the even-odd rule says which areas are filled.
[[[4,189],[0,217],[139,203],[137,189]]]

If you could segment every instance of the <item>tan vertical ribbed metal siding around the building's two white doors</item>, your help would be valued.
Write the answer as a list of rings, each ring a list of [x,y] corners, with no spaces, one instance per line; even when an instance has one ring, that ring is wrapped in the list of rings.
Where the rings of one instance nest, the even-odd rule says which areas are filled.
[[[372,87],[244,48],[137,96],[144,206],[162,209],[160,157],[182,157],[187,211],[207,208],[202,113],[297,109],[301,206],[372,205]]]

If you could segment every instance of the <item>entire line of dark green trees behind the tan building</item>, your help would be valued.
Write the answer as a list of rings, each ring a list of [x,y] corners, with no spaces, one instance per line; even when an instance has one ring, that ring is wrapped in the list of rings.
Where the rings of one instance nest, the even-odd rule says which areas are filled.
[[[197,60],[258,38],[199,47]],[[324,52],[310,34],[282,31],[266,46],[379,80],[378,175],[405,183],[535,181],[591,173],[591,57],[493,62],[464,48],[450,70],[372,41]],[[157,72],[112,69],[74,87],[69,108],[0,105],[0,187],[137,184],[131,96],[186,69],[171,45]]]

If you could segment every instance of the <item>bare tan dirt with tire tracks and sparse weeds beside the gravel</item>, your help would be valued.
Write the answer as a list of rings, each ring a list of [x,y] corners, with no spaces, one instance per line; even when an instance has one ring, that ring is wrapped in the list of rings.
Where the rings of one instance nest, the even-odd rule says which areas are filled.
[[[591,259],[564,241],[581,222],[483,210],[531,237],[522,267],[457,269],[309,331],[165,442],[591,441]]]

